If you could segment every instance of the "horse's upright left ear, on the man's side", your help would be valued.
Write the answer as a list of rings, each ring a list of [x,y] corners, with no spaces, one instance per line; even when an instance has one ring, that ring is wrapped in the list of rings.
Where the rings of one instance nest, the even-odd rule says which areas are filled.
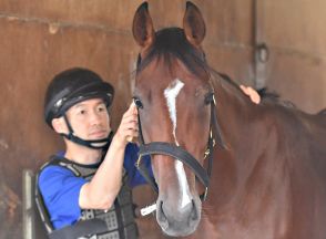
[[[150,46],[155,39],[152,18],[149,12],[149,3],[143,2],[133,17],[132,33],[135,41],[142,48]]]

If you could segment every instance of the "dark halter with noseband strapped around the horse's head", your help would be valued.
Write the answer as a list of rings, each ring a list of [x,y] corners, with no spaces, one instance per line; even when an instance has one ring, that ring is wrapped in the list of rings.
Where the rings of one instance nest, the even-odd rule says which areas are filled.
[[[155,183],[155,179],[150,176],[149,172],[144,164],[142,164],[142,157],[145,155],[167,155],[171,156],[185,165],[187,165],[192,172],[195,174],[196,178],[205,186],[205,191],[200,196],[202,200],[205,200],[207,197],[210,178],[212,174],[212,165],[213,165],[213,149],[215,145],[215,141],[217,144],[225,148],[225,144],[223,142],[221,129],[217,123],[217,115],[216,115],[216,102],[214,93],[208,93],[205,98],[206,104],[211,104],[211,122],[210,122],[210,136],[207,142],[207,149],[205,152],[204,158],[208,157],[208,165],[207,169],[205,169],[195,157],[193,157],[187,150],[185,150],[181,146],[176,146],[171,143],[166,142],[151,142],[145,144],[142,133],[142,125],[140,118],[140,108],[142,108],[141,102],[137,98],[134,98],[136,108],[139,111],[139,131],[140,131],[140,152],[139,152],[139,159],[135,163],[136,168],[142,174],[142,176],[146,179],[150,186],[159,193],[159,187]]]

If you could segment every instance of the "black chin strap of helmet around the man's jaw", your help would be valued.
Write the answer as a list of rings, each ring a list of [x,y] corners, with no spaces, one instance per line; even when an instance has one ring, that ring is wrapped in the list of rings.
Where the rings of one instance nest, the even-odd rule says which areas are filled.
[[[63,115],[63,118],[64,118],[65,124],[68,126],[69,134],[60,134],[60,135],[62,135],[67,139],[73,142],[73,143],[77,143],[79,145],[86,146],[86,147],[94,148],[94,149],[109,148],[111,141],[112,141],[112,137],[113,137],[113,132],[110,132],[109,136],[105,138],[86,141],[86,139],[80,138],[73,134],[73,129],[72,129],[65,114]]]

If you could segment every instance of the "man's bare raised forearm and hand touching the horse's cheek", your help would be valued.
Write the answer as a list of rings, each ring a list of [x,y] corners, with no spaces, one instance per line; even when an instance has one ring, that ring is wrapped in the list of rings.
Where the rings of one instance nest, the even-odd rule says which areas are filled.
[[[125,146],[129,138],[137,137],[137,111],[131,104],[112,139],[105,158],[91,181],[80,191],[81,208],[109,209],[120,190]]]

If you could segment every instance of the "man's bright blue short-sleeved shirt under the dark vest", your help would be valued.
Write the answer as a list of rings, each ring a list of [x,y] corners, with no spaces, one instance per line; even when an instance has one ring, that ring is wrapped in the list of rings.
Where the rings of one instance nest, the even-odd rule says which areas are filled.
[[[129,185],[131,187],[146,183],[134,166],[137,159],[137,145],[132,143],[126,145],[123,166],[129,176]],[[150,158],[146,157],[143,160],[150,174],[153,174]],[[88,167],[98,166],[99,164],[88,165]],[[57,165],[47,166],[41,172],[39,176],[39,188],[54,229],[73,225],[79,220],[81,217],[79,194],[81,187],[86,181],[88,180],[82,177],[74,176],[68,168]]]

